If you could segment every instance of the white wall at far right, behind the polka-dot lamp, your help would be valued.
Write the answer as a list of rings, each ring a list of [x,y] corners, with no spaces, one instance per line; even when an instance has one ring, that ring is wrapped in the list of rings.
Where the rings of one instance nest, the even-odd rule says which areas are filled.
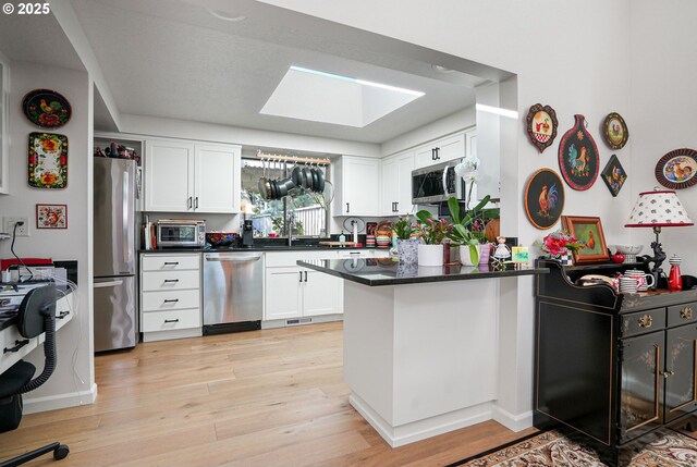
[[[678,148],[697,149],[697,2],[675,0],[670,8],[648,0],[632,2],[631,89],[632,109],[625,119],[629,130],[633,170],[628,172],[632,198],[660,186],[653,175],[656,162]],[[697,187],[678,189],[680,200],[697,222]],[[670,257],[682,256],[683,274],[697,275],[697,228],[663,229],[660,239]],[[633,243],[644,253],[655,238],[650,229],[633,229]],[[669,271],[668,261],[663,270]]]

